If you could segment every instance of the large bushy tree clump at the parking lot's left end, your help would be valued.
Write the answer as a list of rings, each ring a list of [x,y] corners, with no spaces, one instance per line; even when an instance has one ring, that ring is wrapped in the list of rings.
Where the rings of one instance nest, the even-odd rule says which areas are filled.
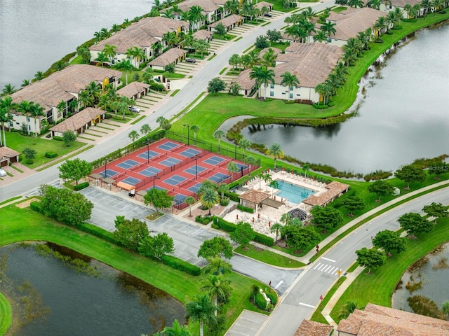
[[[91,218],[93,203],[80,193],[66,188],[42,185],[39,188],[41,210],[45,216],[69,225],[77,225]]]

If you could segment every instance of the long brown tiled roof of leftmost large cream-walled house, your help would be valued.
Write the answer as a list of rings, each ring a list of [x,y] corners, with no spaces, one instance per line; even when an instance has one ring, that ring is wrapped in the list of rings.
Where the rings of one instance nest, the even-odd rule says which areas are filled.
[[[75,94],[86,88],[88,83],[92,81],[101,83],[106,77],[121,77],[121,72],[87,64],[69,65],[43,80],[25,86],[22,90],[11,94],[11,97],[15,103],[27,100],[50,109],[62,100],[68,102],[74,99]]]

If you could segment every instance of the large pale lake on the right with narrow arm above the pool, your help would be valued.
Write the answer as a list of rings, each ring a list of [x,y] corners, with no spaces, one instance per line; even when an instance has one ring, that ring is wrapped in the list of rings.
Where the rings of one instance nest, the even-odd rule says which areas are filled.
[[[330,127],[248,127],[243,136],[266,146],[277,142],[304,162],[356,173],[449,154],[447,55],[449,25],[425,29],[387,58],[379,78],[366,79],[357,117]]]

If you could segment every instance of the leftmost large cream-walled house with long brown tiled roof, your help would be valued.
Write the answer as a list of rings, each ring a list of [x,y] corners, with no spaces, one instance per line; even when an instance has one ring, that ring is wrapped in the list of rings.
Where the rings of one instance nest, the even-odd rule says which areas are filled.
[[[68,111],[69,103],[77,100],[79,92],[86,86],[95,82],[100,87],[103,85],[121,85],[121,71],[102,68],[100,66],[91,66],[87,64],[69,65],[67,68],[52,73],[47,78],[38,80],[31,85],[23,87],[21,90],[11,94],[13,102],[34,102],[40,104],[44,110],[45,116],[38,117],[36,129],[34,129],[34,118],[24,116],[17,111],[11,111],[13,121],[10,126],[15,130],[21,130],[22,123],[25,123],[29,132],[39,133],[41,131],[41,121],[46,120],[49,124],[57,123],[65,117]],[[58,110],[58,104],[65,102],[65,109]]]

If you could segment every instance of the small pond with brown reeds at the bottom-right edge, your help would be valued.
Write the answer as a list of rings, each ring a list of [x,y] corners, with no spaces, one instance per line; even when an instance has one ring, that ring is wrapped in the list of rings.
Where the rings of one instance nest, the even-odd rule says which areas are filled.
[[[407,298],[414,295],[428,297],[439,309],[444,302],[449,301],[449,243],[427,255],[419,264],[402,276],[401,289],[393,294],[393,308],[413,311]],[[410,291],[406,288],[408,283],[421,283],[422,288]]]

